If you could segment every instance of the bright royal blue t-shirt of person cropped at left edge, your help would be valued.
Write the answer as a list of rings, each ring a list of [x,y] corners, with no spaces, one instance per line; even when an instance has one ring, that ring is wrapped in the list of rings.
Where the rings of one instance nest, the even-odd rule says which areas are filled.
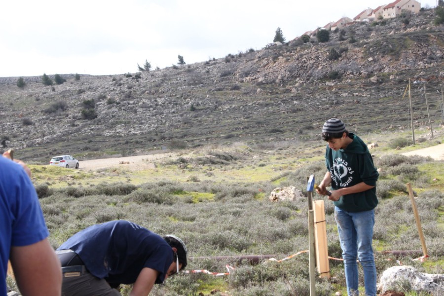
[[[25,170],[0,156],[0,295],[6,295],[11,246],[32,245],[48,235],[36,189]]]

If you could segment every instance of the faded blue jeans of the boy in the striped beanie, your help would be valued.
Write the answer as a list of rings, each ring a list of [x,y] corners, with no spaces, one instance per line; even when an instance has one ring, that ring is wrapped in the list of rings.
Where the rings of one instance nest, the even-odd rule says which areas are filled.
[[[374,210],[346,212],[334,207],[334,219],[339,232],[339,241],[344,259],[345,280],[349,296],[359,295],[358,263],[364,270],[364,285],[367,296],[376,296],[376,266],[374,264],[373,237]]]

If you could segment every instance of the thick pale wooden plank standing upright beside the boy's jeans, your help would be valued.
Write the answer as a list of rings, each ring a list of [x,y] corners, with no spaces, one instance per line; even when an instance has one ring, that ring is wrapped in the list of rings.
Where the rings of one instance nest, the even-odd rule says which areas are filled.
[[[327,248],[327,227],[323,200],[313,201],[316,241],[316,263],[319,277],[330,278],[329,251]]]

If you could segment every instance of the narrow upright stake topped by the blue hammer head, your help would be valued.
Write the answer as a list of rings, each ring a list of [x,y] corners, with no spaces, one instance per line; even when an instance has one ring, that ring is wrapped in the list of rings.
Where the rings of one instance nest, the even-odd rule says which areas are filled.
[[[313,187],[314,187],[314,175],[311,175],[307,183],[307,195],[308,195],[308,251],[310,258],[310,296],[316,295],[316,282],[315,282],[315,230],[314,230],[314,212],[313,212]]]

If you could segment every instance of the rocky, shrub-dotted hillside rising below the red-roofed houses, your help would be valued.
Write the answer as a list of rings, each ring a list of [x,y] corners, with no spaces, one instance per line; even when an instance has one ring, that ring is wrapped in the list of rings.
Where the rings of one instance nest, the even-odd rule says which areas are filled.
[[[432,123],[439,125],[444,28],[432,25],[434,17],[427,10],[356,23],[324,43],[296,39],[150,72],[79,80],[62,74],[67,81],[53,86],[23,77],[20,89],[18,77],[3,77],[0,149],[46,162],[59,153],[87,158],[209,143],[318,141],[333,116],[358,132],[409,128],[407,94],[402,99],[409,79],[414,124],[428,125],[425,84]]]

